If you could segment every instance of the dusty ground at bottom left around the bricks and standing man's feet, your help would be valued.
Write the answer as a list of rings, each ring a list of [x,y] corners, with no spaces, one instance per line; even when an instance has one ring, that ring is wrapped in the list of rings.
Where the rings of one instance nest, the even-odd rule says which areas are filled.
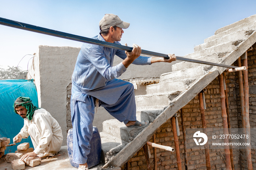
[[[100,166],[98,165],[99,169]],[[0,170],[11,170],[12,165],[11,163],[7,163],[5,158],[0,159]],[[62,146],[59,153],[57,153],[53,158],[46,158],[43,159],[41,165],[30,167],[26,166],[25,170],[33,169],[33,170],[47,170],[47,169],[54,169],[54,170],[78,170],[77,168],[71,166],[69,159],[68,159],[68,151],[67,146]],[[90,170],[97,170],[98,167],[92,167]]]

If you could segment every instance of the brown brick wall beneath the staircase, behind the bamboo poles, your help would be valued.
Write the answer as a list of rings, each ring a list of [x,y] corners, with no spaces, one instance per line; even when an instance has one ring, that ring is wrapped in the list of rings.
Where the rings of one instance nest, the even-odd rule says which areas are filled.
[[[235,62],[234,65],[237,63]],[[248,82],[249,82],[249,113],[251,128],[256,126],[256,43],[253,45],[253,50],[248,51]],[[223,121],[221,117],[221,100],[219,94],[218,78],[212,81],[207,87],[205,116],[207,128],[222,128]],[[238,85],[238,73],[227,73],[227,92],[229,97],[229,113],[230,127],[242,128],[241,124],[241,104]],[[196,96],[185,107],[184,121],[186,128],[202,128],[201,115],[199,110],[199,98]],[[180,145],[180,156],[182,161],[182,169],[184,165],[184,145],[181,129],[181,118],[178,117],[181,135],[178,136]],[[167,120],[156,133],[156,143],[165,146],[174,147],[174,139],[172,132],[172,124]],[[150,140],[152,142],[152,139]],[[150,147],[150,146],[149,146]],[[153,148],[151,151],[151,167],[153,169]],[[252,149],[253,168],[256,168],[255,150]],[[187,149],[188,169],[206,169],[206,159],[204,149],[194,150]],[[234,167],[235,169],[247,169],[246,157],[244,150],[233,149]],[[225,169],[225,152],[224,149],[210,149],[211,169]],[[143,148],[141,148],[130,160],[131,170],[147,170],[146,159]],[[176,153],[157,149],[157,167],[159,170],[177,169]],[[125,169],[125,165],[122,170]]]

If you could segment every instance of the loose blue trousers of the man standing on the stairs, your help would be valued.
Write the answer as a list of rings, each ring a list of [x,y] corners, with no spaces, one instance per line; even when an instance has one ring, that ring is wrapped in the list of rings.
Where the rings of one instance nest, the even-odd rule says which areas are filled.
[[[96,96],[93,96],[94,94]],[[97,95],[99,94],[102,94],[105,97],[98,97]],[[117,97],[117,99],[112,99],[109,96],[113,96],[113,94],[121,95],[114,96]],[[74,102],[75,106],[71,106],[71,115],[73,113],[73,162],[78,164],[86,163],[87,155],[90,153],[90,141],[93,135],[93,119],[96,97],[103,100],[99,100],[99,106],[104,107],[110,115],[120,122],[127,124],[128,121],[136,121],[134,88],[129,82],[114,79],[106,86],[98,89],[96,93],[81,94],[76,98]],[[113,103],[111,101],[116,101],[116,103],[106,104]]]

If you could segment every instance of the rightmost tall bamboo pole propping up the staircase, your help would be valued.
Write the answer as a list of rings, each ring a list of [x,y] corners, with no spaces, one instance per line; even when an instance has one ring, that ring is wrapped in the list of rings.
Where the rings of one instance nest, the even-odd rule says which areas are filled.
[[[251,156],[251,132],[250,132],[250,120],[249,120],[249,84],[248,84],[248,64],[247,64],[247,51],[245,52],[245,59],[243,65],[246,67],[244,70],[244,111],[245,111],[245,130],[246,135],[249,136],[246,143],[250,143],[246,146],[246,158],[248,170],[252,170],[252,156]]]

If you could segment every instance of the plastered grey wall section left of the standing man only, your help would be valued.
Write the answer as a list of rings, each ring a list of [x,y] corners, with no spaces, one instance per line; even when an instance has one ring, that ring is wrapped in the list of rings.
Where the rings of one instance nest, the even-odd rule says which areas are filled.
[[[67,145],[67,86],[79,51],[73,47],[39,46],[34,58],[39,107],[46,109],[59,122],[63,145]]]

